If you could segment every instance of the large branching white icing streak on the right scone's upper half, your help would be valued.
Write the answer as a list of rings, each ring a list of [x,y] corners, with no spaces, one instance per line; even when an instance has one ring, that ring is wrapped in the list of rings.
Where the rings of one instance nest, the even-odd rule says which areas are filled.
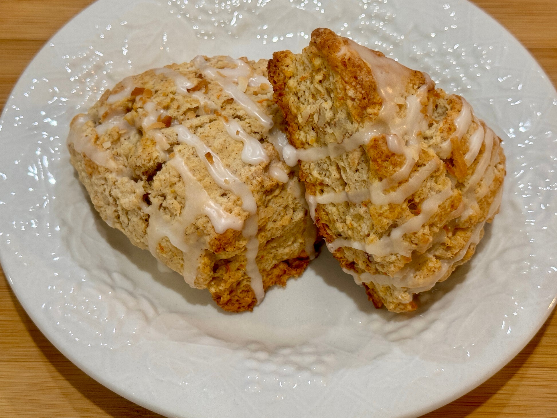
[[[340,203],[343,201],[360,203],[368,199],[377,205],[402,203],[405,198],[419,189],[423,180],[435,171],[440,164],[437,159],[430,161],[414,176],[409,178],[419,157],[420,145],[418,135],[427,128],[427,120],[422,113],[422,103],[426,99],[429,89],[433,88],[433,81],[427,74],[424,74],[426,83],[418,88],[416,94],[407,96],[405,99],[406,114],[404,117],[400,117],[398,115],[398,104],[402,103],[399,103],[399,98],[405,93],[405,85],[400,80],[407,80],[411,75],[411,70],[394,60],[379,56],[355,42],[350,41],[350,46],[358,52],[372,70],[378,93],[383,101],[378,120],[373,124],[366,125],[351,135],[351,137],[344,139],[340,144],[333,143],[324,147],[298,150],[294,149],[294,147],[285,148],[283,151],[285,161],[290,165],[297,160],[307,162],[317,161],[328,156],[331,158],[338,157],[343,153],[354,150],[360,145],[367,144],[373,137],[383,134],[387,139],[387,146],[391,152],[403,154],[405,163],[392,176],[373,183],[367,189],[331,192],[315,197],[306,196],[312,217],[315,216],[317,203]],[[403,186],[385,195],[385,190],[408,178],[408,182],[404,183]]]

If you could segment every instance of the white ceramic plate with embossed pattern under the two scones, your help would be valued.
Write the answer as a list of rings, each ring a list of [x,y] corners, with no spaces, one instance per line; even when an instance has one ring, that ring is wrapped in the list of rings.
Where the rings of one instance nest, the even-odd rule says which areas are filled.
[[[505,139],[500,215],[410,315],[375,310],[328,254],[252,313],[224,313],[106,226],[69,163],[72,116],[124,76],[197,54],[300,51],[320,26],[429,72]],[[470,3],[101,0],[47,43],[2,118],[0,250],[13,290],[77,366],[162,414],[420,415],[504,366],[553,308],[557,94]]]

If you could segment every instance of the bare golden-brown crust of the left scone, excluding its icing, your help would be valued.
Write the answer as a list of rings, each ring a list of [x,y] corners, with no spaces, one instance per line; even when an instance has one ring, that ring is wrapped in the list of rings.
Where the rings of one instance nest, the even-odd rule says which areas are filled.
[[[228,57],[206,60],[218,69],[237,65]],[[267,75],[267,61],[242,61],[250,66],[251,74]],[[173,64],[167,69],[175,73],[148,70],[131,76],[102,95],[87,115],[76,116],[71,123],[70,136],[85,138],[90,154],[98,154],[101,158],[95,162],[87,150],[77,152],[74,138],[69,140],[71,162],[96,210],[109,225],[123,231],[134,245],[152,249],[160,261],[179,273],[189,266],[184,266],[184,252],[166,236],[150,241],[148,227],[154,223],[156,229],[159,222],[183,228],[188,240],[197,237],[206,244],[197,270],[192,272],[194,285],[211,291],[223,309],[251,310],[256,298],[247,274],[248,238],[242,230],[232,228],[217,232],[206,212],[198,213],[189,225],[182,224],[182,212],[186,210],[188,199],[201,195],[188,195],[183,174],[170,161],[183,162],[192,181],[239,222],[246,222],[252,215],[242,208],[240,196],[217,184],[197,149],[178,140],[174,125],[180,124],[197,135],[252,193],[257,206],[257,239],[260,242],[255,262],[262,273],[265,289],[273,284],[285,285],[287,278],[300,275],[309,263],[305,249],[310,235],[305,235],[308,213],[301,197],[303,192],[300,196],[293,192],[299,183],[296,174],[281,161],[268,142],[268,129],[260,119],[248,114],[245,106],[230,97],[218,82],[206,79],[193,62]],[[217,105],[216,109],[203,105],[192,94],[178,91],[172,75],[195,80],[196,85],[189,93],[203,92]],[[249,86],[247,79],[245,84],[245,94],[280,126],[282,118],[271,100],[268,84]],[[119,95],[126,91],[129,91],[128,96]],[[162,113],[157,117],[159,111]],[[228,134],[223,120],[237,121],[247,135],[262,144],[270,161],[243,162],[243,144]],[[79,138],[77,142],[83,144]],[[204,157],[209,164],[214,164],[213,154]],[[112,162],[107,164],[110,168],[102,166],[103,159]],[[282,169],[289,181],[283,183],[273,177],[271,166]],[[173,242],[180,245],[177,241]]]

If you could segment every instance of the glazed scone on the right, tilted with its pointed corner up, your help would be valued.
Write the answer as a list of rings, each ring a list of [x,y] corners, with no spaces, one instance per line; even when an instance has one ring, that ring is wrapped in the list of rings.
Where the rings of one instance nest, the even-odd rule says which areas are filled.
[[[501,140],[427,74],[327,29],[273,54],[268,76],[329,250],[375,307],[416,309],[499,210]]]

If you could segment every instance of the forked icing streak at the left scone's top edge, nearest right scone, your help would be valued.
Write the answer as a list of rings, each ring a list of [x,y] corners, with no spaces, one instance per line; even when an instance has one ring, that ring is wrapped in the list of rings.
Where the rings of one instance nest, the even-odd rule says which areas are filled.
[[[243,62],[242,60],[236,60]],[[238,65],[236,69],[216,69],[211,65],[207,64],[205,58],[198,55],[193,59],[194,64],[198,67],[199,71],[202,72],[203,76],[212,79],[221,85],[222,89],[228,93],[231,98],[237,101],[248,114],[255,116],[261,121],[261,124],[266,129],[271,129],[273,125],[272,119],[261,109],[261,107],[251,100],[243,91],[241,91],[236,84],[233,83],[234,77],[240,77],[245,74],[245,70],[242,65]],[[247,65],[247,64],[245,64]]]

